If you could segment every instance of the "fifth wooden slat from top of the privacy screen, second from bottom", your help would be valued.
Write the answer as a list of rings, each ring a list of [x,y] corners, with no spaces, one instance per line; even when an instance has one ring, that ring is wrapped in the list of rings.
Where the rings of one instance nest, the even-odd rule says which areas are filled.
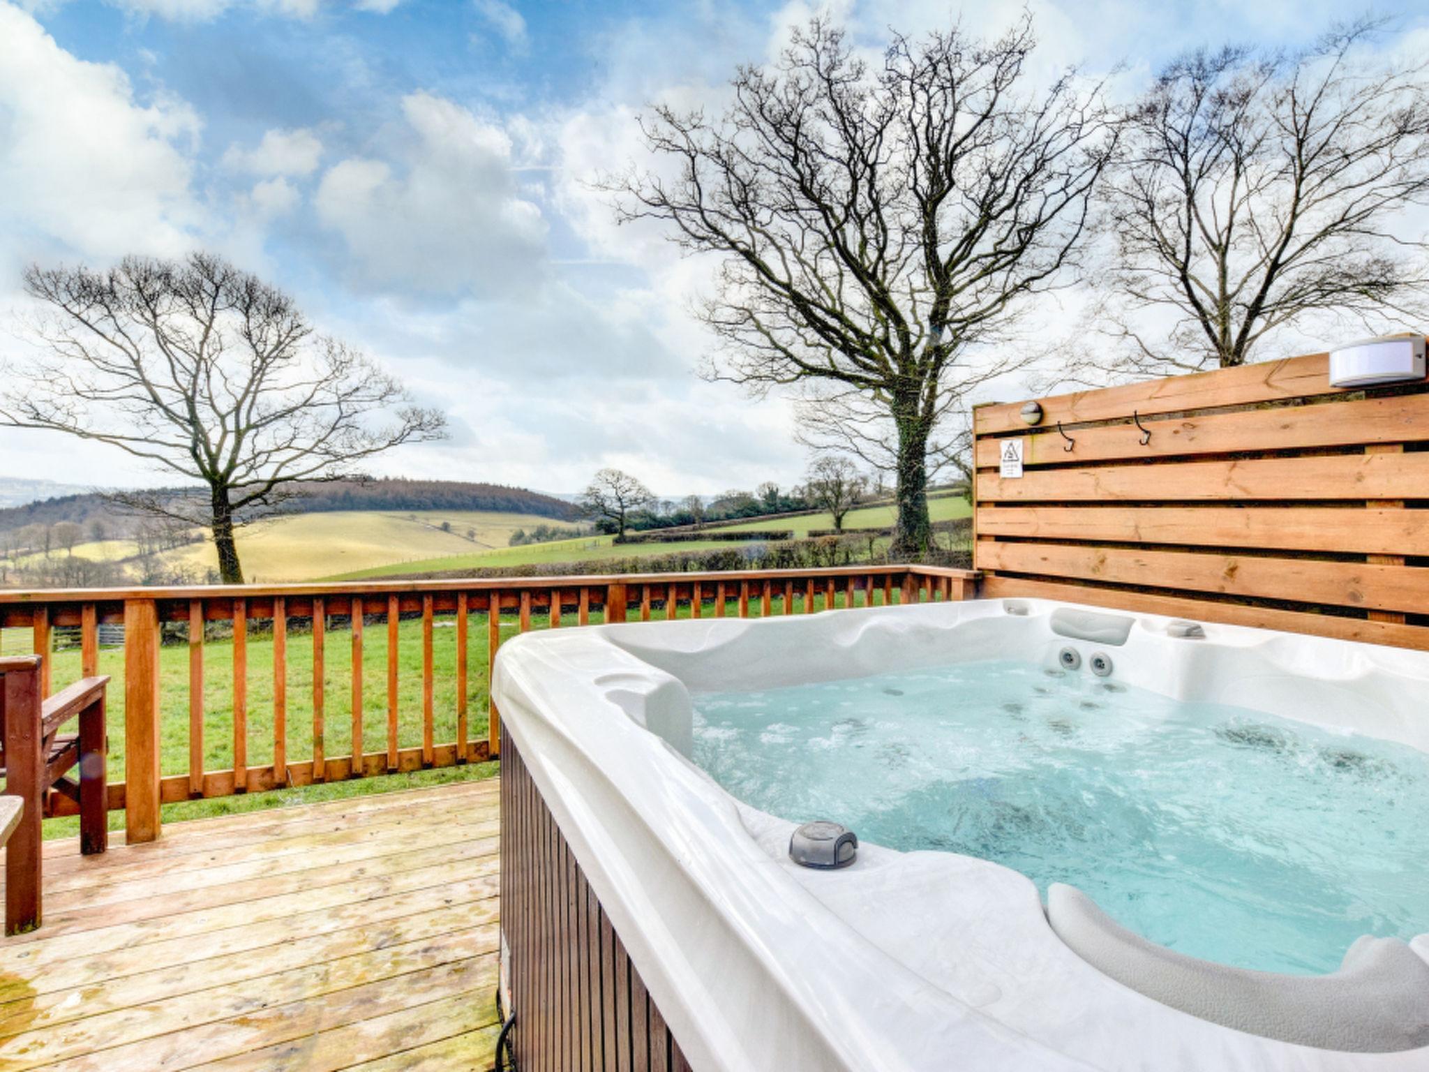
[[[1215,552],[985,543],[987,569],[1378,610],[1429,607],[1429,570]]]

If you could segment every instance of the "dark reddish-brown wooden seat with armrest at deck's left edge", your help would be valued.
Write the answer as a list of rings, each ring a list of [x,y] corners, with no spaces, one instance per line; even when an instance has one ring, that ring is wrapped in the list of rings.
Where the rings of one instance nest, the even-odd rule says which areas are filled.
[[[0,659],[0,763],[4,795],[20,802],[6,842],[4,932],[40,925],[46,802],[59,793],[79,805],[80,852],[109,848],[109,800],[104,779],[104,689],[109,678],[84,678],[49,699],[40,692],[40,656]],[[79,718],[77,733],[60,728]],[[79,780],[66,778],[79,766]],[[13,805],[11,805],[13,808]]]

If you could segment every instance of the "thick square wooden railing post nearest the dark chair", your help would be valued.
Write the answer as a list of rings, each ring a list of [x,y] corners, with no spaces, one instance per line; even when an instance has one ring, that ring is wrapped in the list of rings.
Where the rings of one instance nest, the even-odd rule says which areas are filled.
[[[159,605],[124,600],[124,839],[159,838]]]

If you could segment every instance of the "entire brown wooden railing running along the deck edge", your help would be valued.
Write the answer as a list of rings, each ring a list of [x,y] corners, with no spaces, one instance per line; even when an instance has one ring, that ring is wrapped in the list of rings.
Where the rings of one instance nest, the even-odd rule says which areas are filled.
[[[111,692],[111,708],[121,706],[121,718],[110,719],[110,740],[113,752],[116,733],[123,733],[124,776],[110,782],[109,808],[124,810],[129,840],[151,840],[159,836],[164,803],[494,758],[500,749],[499,713],[487,700],[484,732],[473,733],[473,713],[479,720],[482,712],[472,710],[472,699],[473,678],[490,680],[490,666],[507,625],[503,617],[519,632],[527,632],[533,623],[560,627],[587,625],[593,619],[673,619],[682,609],[689,617],[769,616],[776,607],[777,613],[809,613],[963,599],[972,595],[973,577],[957,569],[869,565],[747,573],[0,592],[0,650],[10,655],[33,650],[46,656],[41,682],[46,696],[56,688],[56,629],[79,627],[79,657],[69,656],[71,672],[67,676],[89,678],[100,673],[101,663],[110,663],[104,672],[114,676],[116,686],[123,682],[121,690]],[[484,650],[480,632],[472,636],[473,617],[477,630],[486,629]],[[404,619],[420,623],[420,636],[409,639],[420,645],[420,690],[413,690],[414,703],[407,705],[402,698]],[[100,625],[120,622],[121,653],[101,653]],[[386,626],[384,636],[379,633],[382,639],[377,639],[386,647],[386,705],[379,730],[370,725],[364,650],[373,643],[369,630],[380,626]],[[439,627],[452,629],[454,647],[450,706],[443,700],[443,715],[454,715],[454,736],[444,742],[436,739]],[[17,629],[27,630],[20,643],[10,632]],[[310,646],[307,653],[294,647],[304,635]],[[346,650],[333,640],[344,643]],[[272,662],[266,682],[254,678],[262,667],[250,666],[256,642],[266,646],[266,660]],[[473,642],[477,657],[486,656],[484,675],[480,667],[477,675],[472,673]],[[214,650],[220,645],[224,650]],[[183,656],[176,656],[184,647],[186,667]],[[220,653],[226,657],[210,659]],[[294,653],[302,659],[294,660]],[[303,663],[302,673],[294,673],[294,662]],[[347,680],[334,682],[342,662],[349,666]],[[306,678],[307,695],[300,703],[290,702],[294,678]],[[337,692],[332,688],[334,683]],[[266,763],[250,762],[254,729],[249,716],[256,710],[250,686],[254,685],[266,685],[269,693],[263,698],[262,719],[270,722],[270,729],[264,728],[272,746]],[[302,688],[303,682],[297,685]],[[480,700],[486,690],[474,692]],[[184,696],[176,699],[176,693]],[[339,706],[347,709],[347,725],[340,728],[344,733],[329,720],[330,709]],[[412,712],[412,706],[417,710]],[[229,718],[220,719],[216,728],[214,718],[224,709]],[[302,712],[304,725],[294,722],[294,710]],[[413,715],[420,723],[420,743],[412,732]],[[403,740],[404,723],[409,723],[410,743]],[[226,740],[216,742],[214,732]],[[164,745],[169,745],[171,768],[176,740],[183,735],[187,735],[187,770],[166,772]],[[294,736],[304,752],[310,748],[310,755],[290,752]],[[339,745],[340,752],[329,748],[334,736],[346,738]],[[366,749],[372,736],[382,739],[382,749]],[[213,768],[207,760],[210,746],[217,743],[229,746],[227,759],[223,766]],[[47,810],[66,815],[71,805],[53,795]]]

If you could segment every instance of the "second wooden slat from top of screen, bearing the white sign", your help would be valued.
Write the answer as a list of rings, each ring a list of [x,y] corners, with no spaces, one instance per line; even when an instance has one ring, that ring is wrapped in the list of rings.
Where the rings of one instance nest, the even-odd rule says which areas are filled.
[[[1127,422],[1130,413],[1123,415]],[[1143,415],[1145,417],[1145,415]],[[1252,450],[1358,446],[1365,443],[1429,442],[1422,396],[1390,396],[1318,406],[1212,413],[1208,416],[1143,420],[1152,437],[1132,423],[1070,432],[1072,450],[1056,429],[1029,430],[1026,465],[1072,465],[1122,459],[1160,459],[1186,455],[1230,455]],[[996,466],[999,443],[979,439],[979,466]]]

